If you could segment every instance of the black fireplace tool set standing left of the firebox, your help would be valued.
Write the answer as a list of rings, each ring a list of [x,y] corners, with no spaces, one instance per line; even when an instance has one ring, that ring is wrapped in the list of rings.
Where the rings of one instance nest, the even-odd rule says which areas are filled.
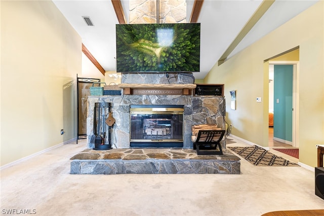
[[[111,147],[111,128],[115,122],[111,113],[111,103],[95,103],[93,120],[93,135],[90,143],[94,144],[94,150],[109,150]],[[107,118],[108,116],[108,118]],[[106,133],[108,125],[108,133]]]

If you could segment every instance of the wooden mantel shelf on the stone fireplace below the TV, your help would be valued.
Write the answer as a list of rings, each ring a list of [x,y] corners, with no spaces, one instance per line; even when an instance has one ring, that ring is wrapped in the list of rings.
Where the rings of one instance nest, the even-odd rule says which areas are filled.
[[[130,95],[191,95],[195,84],[118,84],[124,94]]]

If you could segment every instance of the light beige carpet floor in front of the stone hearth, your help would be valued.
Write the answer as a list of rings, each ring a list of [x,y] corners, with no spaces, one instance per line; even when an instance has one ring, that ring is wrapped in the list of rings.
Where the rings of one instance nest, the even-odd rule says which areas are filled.
[[[249,146],[229,138],[228,146]],[[69,174],[69,158],[85,149],[86,140],[79,140],[2,169],[1,214],[253,216],[324,209],[314,193],[314,172],[303,167],[258,167],[242,159],[239,175]]]

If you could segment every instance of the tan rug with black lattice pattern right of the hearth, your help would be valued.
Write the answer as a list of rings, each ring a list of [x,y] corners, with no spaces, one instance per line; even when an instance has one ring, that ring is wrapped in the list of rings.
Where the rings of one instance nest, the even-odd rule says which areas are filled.
[[[255,166],[299,166],[258,146],[227,148]]]

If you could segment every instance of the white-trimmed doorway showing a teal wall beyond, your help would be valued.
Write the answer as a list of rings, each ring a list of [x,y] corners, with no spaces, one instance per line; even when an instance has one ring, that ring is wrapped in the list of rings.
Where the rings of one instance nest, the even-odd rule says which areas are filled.
[[[296,148],[299,147],[298,68],[298,61],[269,61],[269,115],[273,113],[273,139]]]

